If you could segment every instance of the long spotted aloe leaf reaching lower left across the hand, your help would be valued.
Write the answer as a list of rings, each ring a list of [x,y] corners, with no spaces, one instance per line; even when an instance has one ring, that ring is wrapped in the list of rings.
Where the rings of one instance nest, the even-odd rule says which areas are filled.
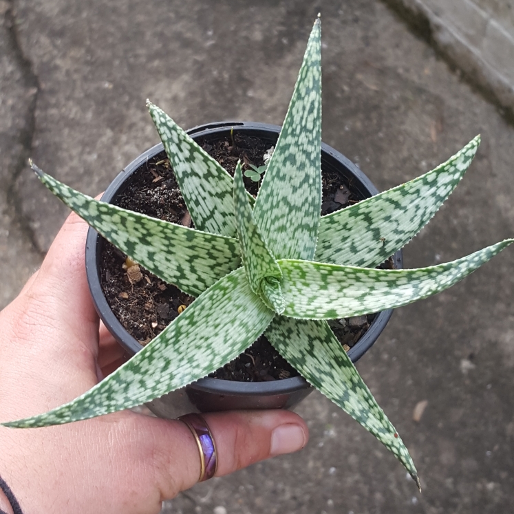
[[[254,295],[239,268],[206,290],[149,345],[82,396],[46,414],[3,425],[62,425],[158,398],[237,357],[274,316]]]

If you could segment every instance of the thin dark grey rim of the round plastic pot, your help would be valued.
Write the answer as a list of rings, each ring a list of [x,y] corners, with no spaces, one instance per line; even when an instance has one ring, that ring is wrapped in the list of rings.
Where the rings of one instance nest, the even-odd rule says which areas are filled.
[[[279,134],[281,127],[279,125],[269,125],[267,123],[259,122],[240,122],[240,121],[227,121],[227,122],[211,122],[204,125],[198,125],[186,131],[189,136],[195,136],[195,138],[204,138],[213,134],[227,131],[228,129],[238,129],[242,131],[261,131],[271,132]],[[110,202],[112,198],[118,193],[120,186],[134,173],[141,164],[149,160],[157,153],[164,151],[162,143],[156,144],[147,151],[144,151],[140,156],[134,159],[127,167],[125,167],[116,178],[109,184],[105,193],[103,193],[101,200],[103,202]],[[363,189],[363,193],[367,193],[369,196],[378,194],[378,189],[374,186],[369,178],[359,169],[356,164],[350,161],[348,158],[343,156],[342,153],[336,151],[328,144],[321,143],[321,157],[322,160],[332,160],[332,162],[339,163],[347,169],[352,175],[354,175]],[[130,354],[136,354],[142,350],[143,346],[131,336],[125,327],[120,323],[118,318],[112,312],[105,296],[103,294],[102,287],[100,285],[100,275],[98,261],[100,259],[100,237],[94,228],[89,227],[87,231],[86,239],[86,250],[85,250],[85,266],[87,274],[87,283],[89,284],[89,290],[93,298],[94,306],[103,321],[107,330],[113,334],[115,339],[125,348]],[[402,251],[398,250],[394,256],[394,264],[396,269],[403,268],[403,256]],[[367,332],[358,340],[354,347],[350,348],[347,352],[348,356],[353,363],[356,363],[367,350],[372,347],[378,336],[384,330],[385,325],[391,318],[393,310],[383,310],[376,314],[375,319],[372,321],[370,328]],[[231,394],[240,395],[245,394],[248,396],[259,396],[261,394],[288,394],[299,389],[306,387],[312,387],[302,376],[295,376],[292,378],[284,378],[279,381],[271,382],[236,382],[226,381],[220,378],[201,378],[199,381],[188,385],[187,387],[193,387],[199,391],[211,392],[216,394],[224,394],[230,396]]]

